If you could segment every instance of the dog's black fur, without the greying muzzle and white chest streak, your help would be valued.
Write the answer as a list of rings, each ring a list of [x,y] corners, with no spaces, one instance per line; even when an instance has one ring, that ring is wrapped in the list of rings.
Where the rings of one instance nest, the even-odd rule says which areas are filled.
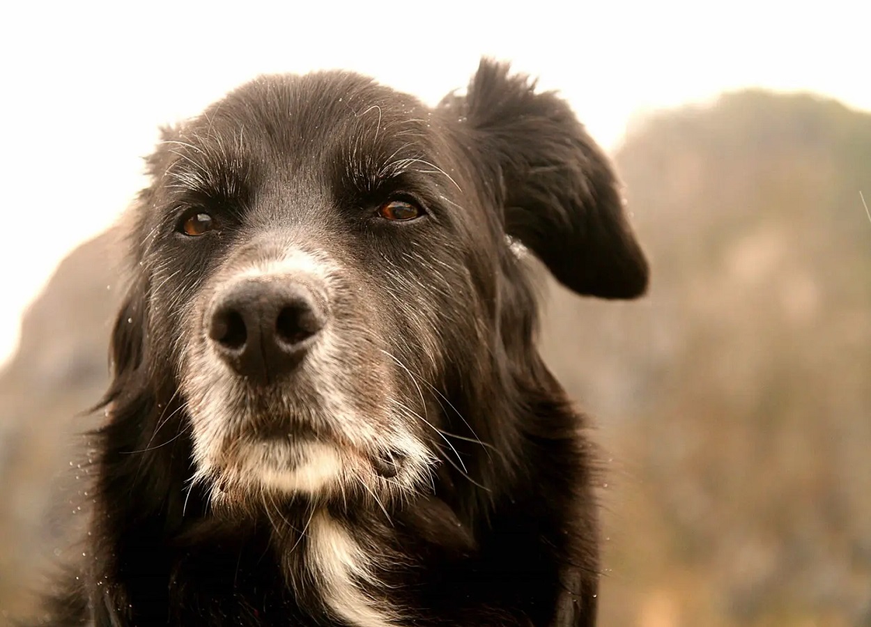
[[[594,455],[583,416],[538,354],[534,290],[505,234],[577,293],[634,298],[647,266],[611,166],[567,104],[490,61],[466,95],[431,110],[324,72],[259,78],[165,137],[179,144],[149,159],[152,186],[122,225],[132,280],[112,335],[108,420],[95,436],[86,556],[41,624],[344,624],[305,575],[316,508],[387,556],[383,585],[361,587],[402,608],[397,624],[595,624]],[[408,150],[426,165],[385,187],[375,165]],[[212,188],[178,192],[173,172],[193,161]],[[179,193],[224,216],[220,239],[173,243],[167,216]],[[427,218],[361,217],[360,207],[396,193],[420,199]],[[221,508],[209,486],[188,483],[180,308],[243,239],[290,222],[330,242],[373,293],[408,278],[403,297],[421,307],[422,322],[397,310],[371,325],[428,373],[422,410],[451,448],[430,432],[434,450],[442,445],[432,484],[386,511],[353,494],[350,504],[288,497]],[[424,334],[437,351],[415,341]]]

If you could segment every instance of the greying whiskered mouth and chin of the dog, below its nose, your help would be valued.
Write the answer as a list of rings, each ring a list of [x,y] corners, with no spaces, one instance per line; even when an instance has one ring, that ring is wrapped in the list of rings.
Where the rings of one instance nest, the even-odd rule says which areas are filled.
[[[424,489],[436,456],[408,419],[413,401],[393,407],[398,391],[374,391],[388,368],[362,370],[357,354],[309,357],[293,386],[228,379],[224,367],[186,378],[196,475],[216,501],[266,494],[344,506]]]

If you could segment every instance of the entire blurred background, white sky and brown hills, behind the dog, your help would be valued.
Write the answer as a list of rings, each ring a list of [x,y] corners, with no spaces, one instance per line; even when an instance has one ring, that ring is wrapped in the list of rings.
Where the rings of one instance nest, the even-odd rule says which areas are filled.
[[[487,54],[571,102],[652,260],[635,303],[546,291],[605,451],[601,624],[871,625],[871,6],[315,4],[0,9],[0,624],[70,550],[158,126],[274,71],[435,104]]]

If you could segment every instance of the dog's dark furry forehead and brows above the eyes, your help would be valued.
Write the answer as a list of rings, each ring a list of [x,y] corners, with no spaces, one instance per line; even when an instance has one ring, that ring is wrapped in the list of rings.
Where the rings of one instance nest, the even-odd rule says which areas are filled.
[[[437,169],[446,152],[433,113],[350,72],[260,77],[166,137],[152,174],[177,197],[367,192],[402,172]]]

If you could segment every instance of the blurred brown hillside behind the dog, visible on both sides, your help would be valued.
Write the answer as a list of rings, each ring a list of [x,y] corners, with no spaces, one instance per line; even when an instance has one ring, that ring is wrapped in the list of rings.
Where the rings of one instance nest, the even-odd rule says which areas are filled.
[[[551,286],[543,334],[607,451],[601,623],[871,625],[871,115],[740,92],[640,122],[617,161],[650,296]],[[110,248],[64,262],[0,375],[4,610],[76,520]]]

